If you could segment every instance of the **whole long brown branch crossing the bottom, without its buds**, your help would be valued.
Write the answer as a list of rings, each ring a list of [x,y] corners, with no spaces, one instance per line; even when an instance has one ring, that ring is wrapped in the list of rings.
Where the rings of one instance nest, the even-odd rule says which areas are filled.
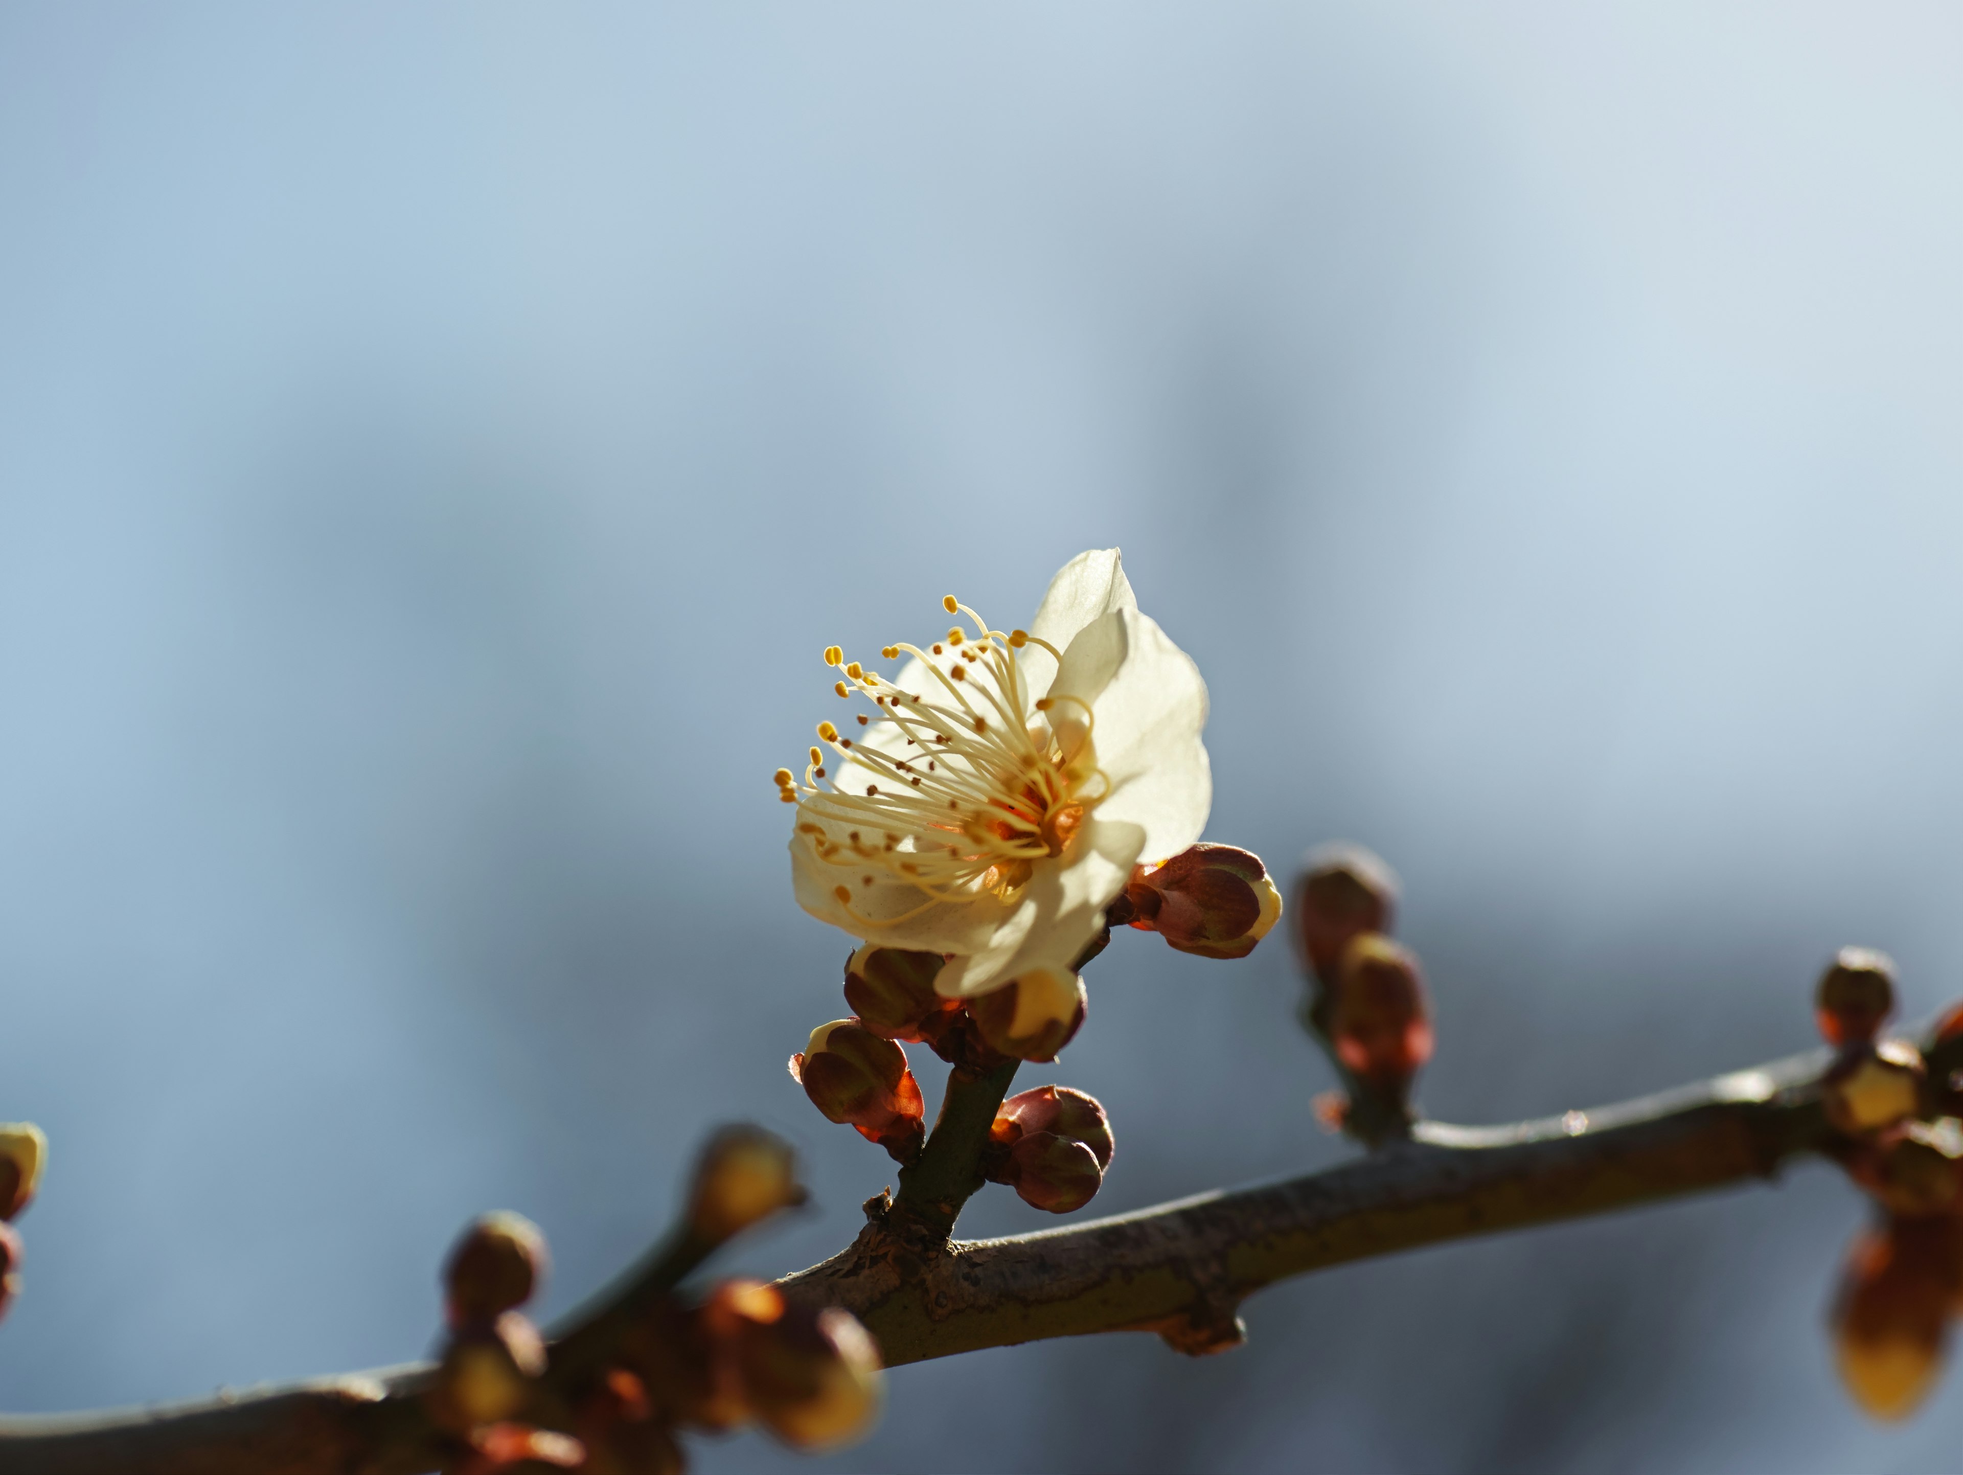
[[[1290,1275],[1765,1178],[1788,1157],[1831,1149],[1818,1102],[1828,1063],[1814,1051],[1510,1127],[1423,1121],[1409,1141],[1323,1173],[1046,1233],[956,1241],[925,1259],[881,1216],[846,1251],[779,1284],[852,1310],[889,1365],[1117,1330],[1217,1349],[1235,1339],[1239,1302]],[[985,1090],[999,1102],[1007,1076]],[[652,1253],[575,1318],[554,1361],[605,1361],[605,1343],[632,1320],[630,1302],[675,1263]],[[438,1463],[418,1400],[428,1371],[157,1410],[4,1418],[0,1475],[412,1475]]]

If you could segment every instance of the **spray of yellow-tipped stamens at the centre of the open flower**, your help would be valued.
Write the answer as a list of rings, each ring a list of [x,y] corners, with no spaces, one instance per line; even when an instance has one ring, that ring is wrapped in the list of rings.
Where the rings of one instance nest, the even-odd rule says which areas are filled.
[[[1070,850],[1111,788],[1097,768],[1089,709],[1076,697],[1029,699],[1015,652],[1036,644],[1058,656],[1056,648],[1023,630],[991,630],[954,595],[942,605],[968,615],[978,632],[956,625],[928,650],[879,652],[917,656],[925,693],[901,691],[828,646],[824,664],[844,676],[832,689],[870,699],[875,711],[854,715],[864,729],[856,740],[819,723],[832,756],[813,746],[801,784],[777,770],[779,797],[801,805],[797,833],[840,868],[838,900],[872,925],[881,923],[852,900],[881,880],[921,894],[905,917],[938,901],[1007,900],[1036,862]]]

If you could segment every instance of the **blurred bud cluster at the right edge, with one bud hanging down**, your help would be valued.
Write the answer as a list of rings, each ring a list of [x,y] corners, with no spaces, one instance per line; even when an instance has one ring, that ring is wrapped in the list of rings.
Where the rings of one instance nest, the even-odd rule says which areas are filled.
[[[1881,1039],[1892,1011],[1886,955],[1841,949],[1814,996],[1820,1033],[1837,1051],[1820,1106],[1879,1218],[1847,1253],[1833,1353],[1847,1391],[1877,1418],[1902,1418],[1922,1402],[1963,1310],[1963,1123],[1922,1051]],[[1963,1010],[1937,1031],[1932,1055],[1951,1039],[1963,1043]]]

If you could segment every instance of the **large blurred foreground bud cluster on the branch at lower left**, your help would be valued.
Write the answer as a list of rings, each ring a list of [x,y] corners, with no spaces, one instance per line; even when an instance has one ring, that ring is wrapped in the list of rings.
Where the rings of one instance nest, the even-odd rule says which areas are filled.
[[[673,1275],[634,1302],[597,1363],[573,1353],[563,1367],[518,1310],[544,1277],[544,1237],[516,1214],[473,1224],[444,1269],[450,1334],[424,1393],[430,1422],[451,1442],[446,1471],[679,1475],[687,1428],[760,1424],[805,1451],[860,1436],[877,1414],[883,1375],[848,1312],[791,1304],[758,1281],[722,1281],[695,1302],[669,1288],[803,1196],[779,1139],[750,1127],[718,1133],[665,1255]]]

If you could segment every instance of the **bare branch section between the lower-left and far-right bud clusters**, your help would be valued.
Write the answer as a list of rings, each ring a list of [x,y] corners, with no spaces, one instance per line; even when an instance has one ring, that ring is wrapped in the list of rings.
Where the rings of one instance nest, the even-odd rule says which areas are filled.
[[[1828,1063],[1814,1051],[1512,1127],[1419,1123],[1411,1141],[1325,1173],[954,1243],[927,1265],[868,1224],[783,1286],[856,1314],[887,1365],[1117,1330],[1209,1351],[1237,1339],[1245,1296],[1290,1275],[1771,1176],[1820,1145]]]

